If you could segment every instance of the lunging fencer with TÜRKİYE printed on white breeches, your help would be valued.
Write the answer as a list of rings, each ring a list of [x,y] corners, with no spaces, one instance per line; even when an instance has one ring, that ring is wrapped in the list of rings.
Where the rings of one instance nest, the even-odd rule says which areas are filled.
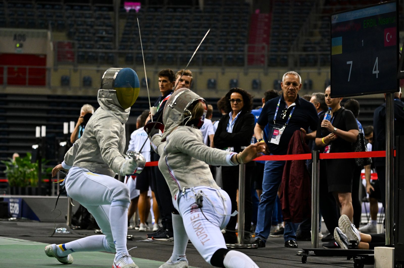
[[[164,132],[149,123],[158,167],[170,188],[173,204],[173,254],[160,268],[186,268],[188,238],[209,264],[223,268],[257,268],[247,255],[228,250],[221,233],[230,218],[230,198],[213,180],[209,165],[238,165],[263,153],[252,144],[241,153],[207,147],[199,128],[206,115],[206,101],[187,88],[175,91],[163,111]],[[236,181],[236,178],[235,178]]]

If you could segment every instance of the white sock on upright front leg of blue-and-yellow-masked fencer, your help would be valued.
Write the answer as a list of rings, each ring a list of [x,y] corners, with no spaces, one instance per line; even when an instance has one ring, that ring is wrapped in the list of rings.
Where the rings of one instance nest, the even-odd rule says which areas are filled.
[[[128,234],[128,206],[124,201],[112,201],[109,209],[109,221],[112,237],[114,238],[116,257],[128,254],[126,234]],[[117,259],[118,259],[117,258]]]

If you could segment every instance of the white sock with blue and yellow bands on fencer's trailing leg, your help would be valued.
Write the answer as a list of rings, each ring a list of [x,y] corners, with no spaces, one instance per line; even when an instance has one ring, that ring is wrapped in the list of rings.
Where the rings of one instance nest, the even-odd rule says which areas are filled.
[[[75,241],[56,246],[56,254],[64,257],[79,251],[111,251],[107,246],[105,235],[91,235]]]

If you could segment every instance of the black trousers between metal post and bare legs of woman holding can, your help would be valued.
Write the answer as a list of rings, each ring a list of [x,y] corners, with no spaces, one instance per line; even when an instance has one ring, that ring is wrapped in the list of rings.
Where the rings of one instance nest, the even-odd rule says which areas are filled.
[[[320,213],[324,219],[328,232],[333,234],[335,227],[338,227],[339,213],[335,198],[332,196],[332,193],[328,192],[325,161],[320,161],[320,182],[318,193]]]

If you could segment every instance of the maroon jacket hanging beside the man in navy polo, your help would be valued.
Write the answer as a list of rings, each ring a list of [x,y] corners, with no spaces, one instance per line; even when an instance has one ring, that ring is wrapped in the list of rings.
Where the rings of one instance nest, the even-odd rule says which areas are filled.
[[[304,141],[306,134],[293,133],[288,145],[288,155],[309,153]],[[302,222],[311,216],[311,183],[306,160],[287,160],[280,184],[280,202],[284,221]]]

